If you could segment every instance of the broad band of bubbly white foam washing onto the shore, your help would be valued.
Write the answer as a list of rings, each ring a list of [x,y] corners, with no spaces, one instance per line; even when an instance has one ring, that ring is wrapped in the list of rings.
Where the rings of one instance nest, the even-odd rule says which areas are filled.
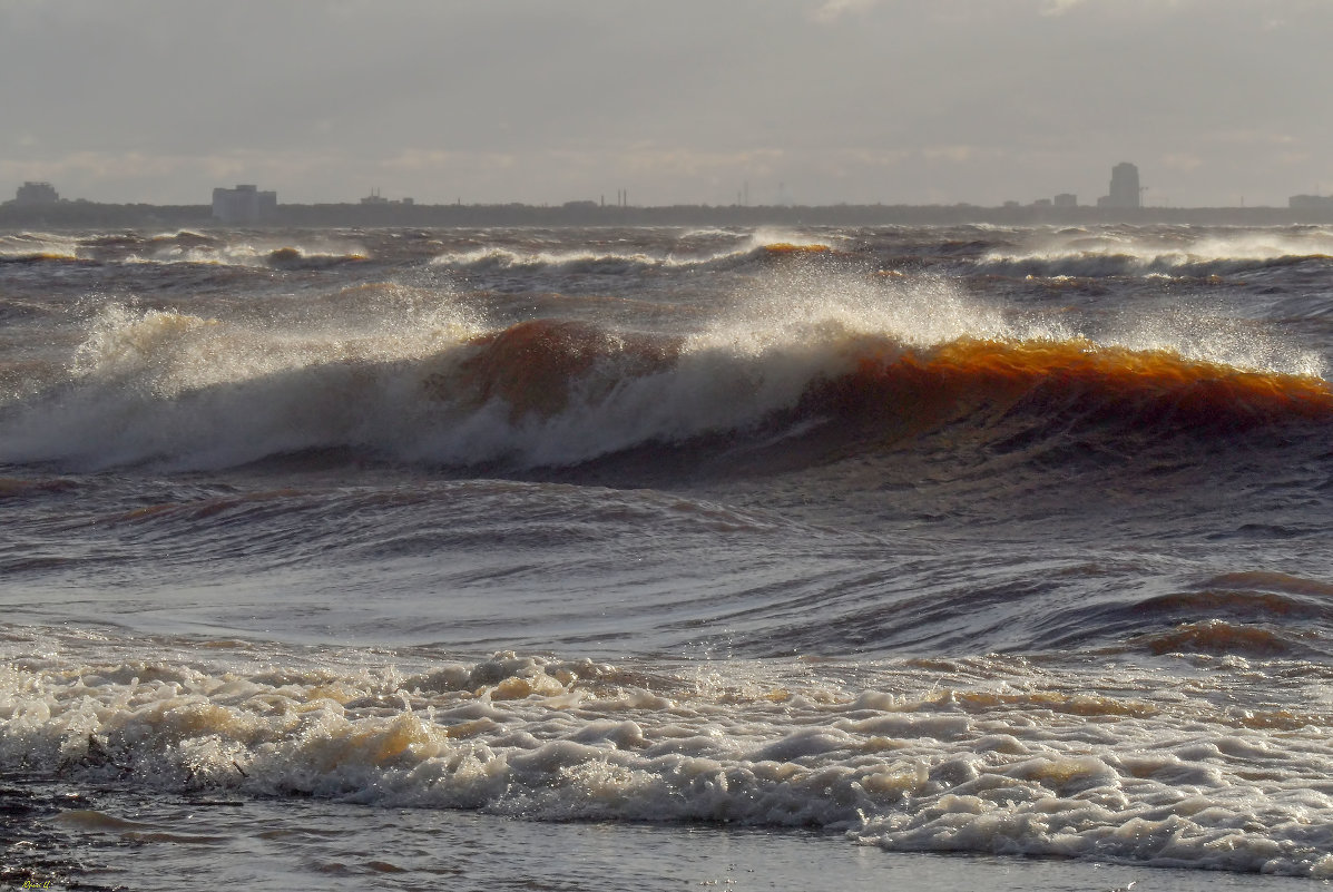
[[[1329,876],[1333,745],[1218,703],[1232,671],[437,664],[11,641],[0,767],[151,791],[537,819],[842,829],[894,851]],[[1289,668],[1274,667],[1274,672]],[[1253,685],[1254,665],[1241,675]],[[1102,693],[1098,693],[1102,692]]]

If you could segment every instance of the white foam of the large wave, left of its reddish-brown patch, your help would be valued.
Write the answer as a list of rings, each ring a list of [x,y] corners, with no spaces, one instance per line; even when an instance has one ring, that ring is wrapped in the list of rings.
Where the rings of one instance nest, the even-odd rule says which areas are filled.
[[[100,308],[71,381],[16,409],[7,461],[227,467],[337,445],[392,445],[425,411],[413,361],[480,329],[449,296],[368,321],[265,328],[121,303]]]

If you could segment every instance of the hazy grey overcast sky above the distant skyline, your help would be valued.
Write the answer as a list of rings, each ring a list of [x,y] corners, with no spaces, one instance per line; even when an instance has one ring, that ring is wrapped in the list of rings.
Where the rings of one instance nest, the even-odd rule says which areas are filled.
[[[0,0],[0,199],[1285,205],[1333,0]]]

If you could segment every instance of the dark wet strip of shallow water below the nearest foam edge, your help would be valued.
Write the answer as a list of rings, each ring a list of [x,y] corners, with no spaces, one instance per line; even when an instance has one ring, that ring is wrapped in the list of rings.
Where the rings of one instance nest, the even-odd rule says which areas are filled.
[[[11,781],[12,783],[12,781]],[[21,791],[21,792],[20,792]],[[688,887],[878,892],[1296,892],[1312,880],[1098,859],[902,852],[800,828],[544,821],[485,811],[375,808],[327,799],[145,795],[115,784],[75,792],[24,783],[40,815],[0,883],[67,889],[353,892],[392,879],[461,888]],[[15,831],[15,827],[9,827]],[[145,856],[157,856],[144,869]],[[1317,883],[1317,880],[1314,880]]]

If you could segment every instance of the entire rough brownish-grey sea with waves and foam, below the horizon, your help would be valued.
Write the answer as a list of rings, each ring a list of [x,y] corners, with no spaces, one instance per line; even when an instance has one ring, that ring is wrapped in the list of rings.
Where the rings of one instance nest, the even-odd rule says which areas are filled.
[[[0,233],[0,884],[1333,877],[1333,227]]]

